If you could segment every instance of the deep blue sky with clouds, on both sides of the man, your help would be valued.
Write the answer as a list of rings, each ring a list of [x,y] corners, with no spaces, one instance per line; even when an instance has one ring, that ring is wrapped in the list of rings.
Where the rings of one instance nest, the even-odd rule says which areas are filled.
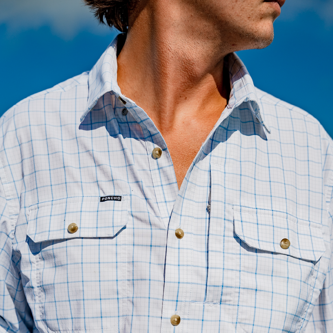
[[[0,0],[0,115],[90,70],[116,35],[81,0]],[[254,84],[316,117],[333,136],[333,0],[286,0],[264,50],[238,52]]]

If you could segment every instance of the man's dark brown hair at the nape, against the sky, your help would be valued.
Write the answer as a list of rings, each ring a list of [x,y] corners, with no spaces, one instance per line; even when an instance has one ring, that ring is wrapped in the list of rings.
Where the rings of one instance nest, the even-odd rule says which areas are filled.
[[[128,11],[133,9],[134,0],[84,0],[84,2],[101,23],[123,32],[127,31]]]

